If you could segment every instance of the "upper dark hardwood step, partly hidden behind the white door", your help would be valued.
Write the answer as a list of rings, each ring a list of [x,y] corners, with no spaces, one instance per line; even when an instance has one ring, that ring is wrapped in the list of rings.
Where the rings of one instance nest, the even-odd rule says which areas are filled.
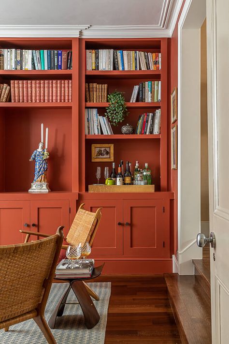
[[[203,260],[203,259],[192,259],[192,262],[195,267],[196,280],[210,299],[211,298],[210,261]]]

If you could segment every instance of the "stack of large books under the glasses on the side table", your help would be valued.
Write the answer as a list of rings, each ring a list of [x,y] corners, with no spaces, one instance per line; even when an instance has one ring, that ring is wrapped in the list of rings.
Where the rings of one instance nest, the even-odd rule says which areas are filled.
[[[56,268],[56,278],[88,278],[94,269],[94,259],[62,259]]]

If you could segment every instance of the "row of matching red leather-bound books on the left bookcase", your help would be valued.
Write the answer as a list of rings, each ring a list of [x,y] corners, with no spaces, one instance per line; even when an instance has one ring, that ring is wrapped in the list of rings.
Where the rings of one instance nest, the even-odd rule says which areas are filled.
[[[72,80],[11,80],[11,101],[72,102]]]

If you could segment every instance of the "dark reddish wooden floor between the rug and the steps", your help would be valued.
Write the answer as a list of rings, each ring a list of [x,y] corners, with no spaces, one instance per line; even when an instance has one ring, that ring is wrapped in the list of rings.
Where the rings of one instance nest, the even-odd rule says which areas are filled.
[[[112,282],[105,344],[180,344],[165,279],[155,276],[100,276]]]

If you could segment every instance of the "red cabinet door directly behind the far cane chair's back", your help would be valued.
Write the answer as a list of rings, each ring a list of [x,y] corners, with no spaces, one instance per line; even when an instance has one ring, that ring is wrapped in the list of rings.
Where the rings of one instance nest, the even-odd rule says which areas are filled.
[[[122,200],[84,200],[85,209],[95,212],[102,207],[101,220],[92,244],[93,255],[123,254]],[[118,225],[120,223],[121,225]]]

